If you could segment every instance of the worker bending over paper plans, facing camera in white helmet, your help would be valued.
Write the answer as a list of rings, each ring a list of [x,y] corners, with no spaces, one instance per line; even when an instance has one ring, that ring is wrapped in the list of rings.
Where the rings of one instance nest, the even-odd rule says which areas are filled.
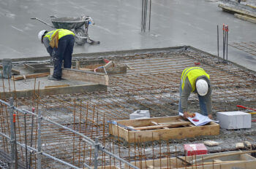
[[[178,111],[189,117],[188,98],[190,93],[197,93],[200,104],[200,114],[211,115],[211,83],[210,76],[200,67],[185,68],[181,74],[180,100]]]

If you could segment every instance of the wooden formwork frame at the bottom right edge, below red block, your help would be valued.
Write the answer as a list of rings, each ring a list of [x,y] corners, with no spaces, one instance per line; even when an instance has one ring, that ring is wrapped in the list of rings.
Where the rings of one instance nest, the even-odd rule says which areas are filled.
[[[206,157],[222,155],[222,154],[230,154],[230,152],[222,152],[222,153],[214,153],[214,154],[206,154],[206,155],[198,155],[193,157],[180,157],[183,160],[187,160],[187,162],[192,162],[193,160],[199,160],[194,162],[192,165],[185,165],[184,162],[179,160],[176,157],[165,157],[157,160],[138,160],[135,162],[131,162],[132,165],[137,166],[138,168],[180,168],[180,169],[255,169],[256,166],[256,158],[252,157],[249,154],[236,154],[230,155],[226,157],[219,157],[211,160],[203,160]],[[128,165],[125,165],[125,169],[129,169]]]

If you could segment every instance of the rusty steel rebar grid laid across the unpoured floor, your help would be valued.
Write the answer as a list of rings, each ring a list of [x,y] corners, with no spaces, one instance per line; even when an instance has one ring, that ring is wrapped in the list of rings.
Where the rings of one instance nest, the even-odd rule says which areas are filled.
[[[188,66],[195,66],[200,61],[200,67],[210,75],[213,86],[212,100],[213,110],[231,111],[238,110],[236,103],[244,106],[256,106],[255,74],[243,70],[232,63],[217,63],[213,58],[201,52],[159,52],[127,56],[115,60],[117,63],[129,65],[127,74],[110,75],[108,92],[80,93],[74,95],[52,95],[42,98],[37,97],[36,87],[33,98],[15,99],[16,106],[26,105],[26,109],[32,106],[42,109],[42,116],[47,117],[61,125],[77,130],[94,139],[99,137],[102,144],[110,152],[118,154],[127,160],[139,160],[147,158],[168,157],[170,152],[161,152],[157,148],[155,154],[143,144],[123,145],[121,138],[108,137],[108,120],[128,119],[129,114],[137,109],[149,109],[151,117],[163,117],[177,115],[178,111],[178,87],[181,72]],[[5,85],[5,91],[10,89]],[[3,83],[4,87],[4,83]],[[197,95],[189,98],[193,111],[197,111]],[[223,104],[225,103],[225,105]],[[1,132],[10,132],[10,122],[5,106],[0,109]],[[32,117],[26,117],[27,144],[37,146],[37,123],[31,123]],[[33,131],[31,129],[33,127]],[[18,141],[24,144],[24,117],[18,116],[17,124]],[[29,140],[33,135],[32,143]],[[139,139],[139,138],[138,138]],[[140,142],[140,141],[138,141]],[[161,141],[159,141],[161,147]],[[153,146],[154,147],[154,146]],[[1,149],[10,152],[7,140],[2,138]],[[150,149],[148,152],[145,149]],[[154,148],[153,148],[154,149]],[[69,131],[62,130],[53,125],[42,124],[42,151],[52,154],[66,162],[70,162],[80,168],[83,162],[89,165],[93,162],[93,148],[81,140],[79,136]],[[24,149],[19,148],[20,160],[25,161]],[[121,155],[122,152],[129,156]],[[165,153],[163,153],[165,152]],[[173,151],[174,152],[174,151]],[[33,167],[36,167],[36,156],[31,156]],[[121,162],[109,158],[105,153],[99,158],[100,165],[120,165]],[[47,159],[42,159],[45,168],[53,168]]]

